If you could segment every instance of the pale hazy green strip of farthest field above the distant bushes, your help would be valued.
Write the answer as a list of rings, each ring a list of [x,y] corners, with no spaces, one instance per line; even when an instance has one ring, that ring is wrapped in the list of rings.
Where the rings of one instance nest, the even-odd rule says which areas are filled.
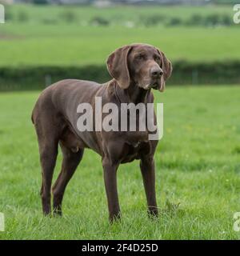
[[[233,13],[233,6],[109,6],[98,8],[94,6],[39,6],[30,4],[18,4],[6,6],[6,15],[11,16],[13,22],[19,21],[19,13],[24,12],[27,21],[32,23],[52,20],[64,22],[64,14],[74,13],[74,19],[79,24],[90,22],[95,17],[106,18],[114,24],[122,25],[122,22],[139,22],[149,14],[167,16],[168,18],[190,18],[191,14],[229,14]],[[133,15],[134,13],[134,15]]]

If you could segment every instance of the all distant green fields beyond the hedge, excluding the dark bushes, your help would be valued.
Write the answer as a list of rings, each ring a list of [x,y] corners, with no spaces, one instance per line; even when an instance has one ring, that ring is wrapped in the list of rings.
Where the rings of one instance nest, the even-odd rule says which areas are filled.
[[[146,42],[165,51],[171,60],[213,62],[239,59],[239,26],[141,26],[142,15],[165,15],[167,18],[189,18],[192,14],[229,14],[231,6],[209,7],[94,7],[12,6],[12,21],[0,25],[0,66],[86,65],[101,64],[111,51],[124,44]],[[61,14],[70,10],[77,20],[63,22]],[[16,17],[24,11],[27,22]],[[133,15],[134,11],[134,15]],[[110,26],[94,26],[90,20],[104,17]],[[231,17],[231,16],[230,16]],[[58,18],[56,24],[42,22]],[[126,24],[133,22],[134,27]]]

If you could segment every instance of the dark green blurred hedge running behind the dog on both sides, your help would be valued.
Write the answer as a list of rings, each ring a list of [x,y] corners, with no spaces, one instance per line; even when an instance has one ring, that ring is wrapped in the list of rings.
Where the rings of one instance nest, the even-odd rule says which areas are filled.
[[[240,60],[225,62],[173,63],[168,84],[240,84]],[[53,82],[77,78],[106,82],[110,75],[106,66],[20,66],[0,67],[0,90],[42,90]]]

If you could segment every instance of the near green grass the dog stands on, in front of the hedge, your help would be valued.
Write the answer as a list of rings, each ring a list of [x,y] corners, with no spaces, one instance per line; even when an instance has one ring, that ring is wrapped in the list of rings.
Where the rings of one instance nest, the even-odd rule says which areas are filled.
[[[168,87],[164,137],[155,155],[157,221],[147,218],[138,162],[118,170],[122,222],[110,225],[101,160],[86,150],[63,218],[43,218],[38,145],[30,113],[38,93],[0,94],[0,239],[239,239],[240,122],[237,86]],[[55,171],[60,169],[61,157]],[[179,204],[179,205],[178,205]]]

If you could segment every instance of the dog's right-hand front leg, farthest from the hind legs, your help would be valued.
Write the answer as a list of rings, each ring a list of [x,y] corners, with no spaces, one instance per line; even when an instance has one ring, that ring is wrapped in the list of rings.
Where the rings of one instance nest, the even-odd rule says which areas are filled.
[[[151,215],[158,215],[158,206],[155,192],[154,158],[142,158],[140,162],[143,184],[146,192],[148,210]]]

